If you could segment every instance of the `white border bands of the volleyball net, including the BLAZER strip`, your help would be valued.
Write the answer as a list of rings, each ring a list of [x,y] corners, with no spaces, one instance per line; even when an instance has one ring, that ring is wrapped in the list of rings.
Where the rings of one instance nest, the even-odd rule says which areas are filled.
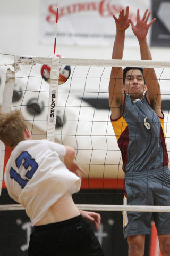
[[[47,139],[54,141],[55,138],[55,124],[56,124],[56,107],[57,107],[57,87],[58,87],[58,74],[61,65],[70,66],[82,66],[84,67],[143,67],[143,68],[170,68],[169,61],[128,61],[128,60],[102,60],[102,59],[69,59],[69,58],[43,58],[43,57],[30,57],[30,56],[15,56],[14,67],[15,72],[7,70],[5,90],[3,95],[2,111],[10,111],[13,86],[15,81],[15,73],[20,70],[20,66],[29,65],[36,66],[51,65],[50,74],[50,92],[49,92],[49,106],[48,106],[48,118],[47,118]],[[109,77],[108,77],[109,79]],[[10,95],[10,97],[9,97]],[[55,110],[51,112],[51,104]],[[54,115],[54,116],[53,116]],[[1,159],[4,157],[4,147],[1,146]],[[2,173],[3,166],[1,162],[1,185],[2,185]],[[77,205],[79,209],[83,210],[100,210],[100,211],[144,211],[144,212],[170,212],[169,206],[131,206],[131,205]],[[0,205],[1,210],[22,210],[21,205]]]

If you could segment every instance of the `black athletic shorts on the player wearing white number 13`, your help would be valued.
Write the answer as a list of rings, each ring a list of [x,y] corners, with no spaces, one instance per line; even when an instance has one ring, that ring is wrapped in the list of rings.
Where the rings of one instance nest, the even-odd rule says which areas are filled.
[[[94,231],[81,215],[34,228],[29,256],[104,256]]]

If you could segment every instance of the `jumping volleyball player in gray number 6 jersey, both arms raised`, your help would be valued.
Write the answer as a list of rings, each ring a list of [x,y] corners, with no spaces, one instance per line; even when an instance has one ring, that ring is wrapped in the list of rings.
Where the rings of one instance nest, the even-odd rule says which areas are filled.
[[[151,12],[148,9],[137,25],[129,19],[129,7],[116,23],[112,59],[122,59],[125,30],[137,36],[142,60],[152,60],[147,43]],[[144,79],[145,78],[145,79]],[[143,94],[144,97],[143,97]],[[164,138],[162,97],[154,68],[112,67],[109,83],[111,121],[120,147],[125,172],[125,198],[128,205],[170,205],[170,174]],[[160,251],[170,255],[170,213],[124,212],[124,236],[129,256],[143,256],[145,235],[151,232],[151,217],[158,231]]]

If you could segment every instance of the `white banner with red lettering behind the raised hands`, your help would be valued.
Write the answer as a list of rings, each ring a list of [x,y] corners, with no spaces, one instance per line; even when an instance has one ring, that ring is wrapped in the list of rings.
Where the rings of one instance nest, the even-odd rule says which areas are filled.
[[[62,0],[59,5],[56,44],[110,46],[113,45],[116,27],[112,15],[118,17],[122,9],[130,7],[129,18],[137,21],[150,10],[151,0]],[[54,44],[57,1],[40,1],[40,43]],[[126,30],[125,46],[138,45],[131,26]]]

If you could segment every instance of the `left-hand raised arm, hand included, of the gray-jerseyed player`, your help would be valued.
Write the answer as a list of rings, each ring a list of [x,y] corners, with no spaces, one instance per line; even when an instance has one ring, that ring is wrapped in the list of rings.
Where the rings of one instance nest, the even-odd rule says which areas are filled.
[[[125,30],[128,29],[130,24],[129,7],[120,11],[118,19],[113,15],[116,23],[116,36],[113,46],[112,59],[122,59],[124,50]],[[112,67],[111,79],[109,82],[109,106],[111,107],[111,118],[117,119],[122,115],[124,92],[123,86],[123,70],[121,67]]]

